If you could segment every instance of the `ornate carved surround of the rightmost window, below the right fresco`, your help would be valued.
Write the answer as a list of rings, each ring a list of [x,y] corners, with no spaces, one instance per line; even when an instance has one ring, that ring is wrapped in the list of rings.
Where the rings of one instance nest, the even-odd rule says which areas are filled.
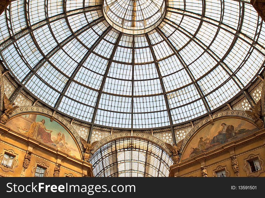
[[[249,161],[254,160],[254,159],[258,159],[258,161],[260,163],[261,170],[251,172],[250,166],[249,166]],[[265,171],[264,170],[264,164],[265,163],[264,163],[264,160],[261,158],[260,154],[257,154],[257,155],[251,154],[251,155],[249,155],[248,158],[244,159],[244,163],[245,163],[244,171],[247,172],[248,177],[249,176],[258,177],[260,175],[260,173]]]

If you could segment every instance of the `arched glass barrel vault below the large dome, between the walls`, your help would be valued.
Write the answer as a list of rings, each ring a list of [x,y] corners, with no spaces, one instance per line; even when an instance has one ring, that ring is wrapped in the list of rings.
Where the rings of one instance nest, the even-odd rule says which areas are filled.
[[[168,177],[173,165],[158,145],[139,138],[121,138],[98,149],[89,162],[95,177]]]

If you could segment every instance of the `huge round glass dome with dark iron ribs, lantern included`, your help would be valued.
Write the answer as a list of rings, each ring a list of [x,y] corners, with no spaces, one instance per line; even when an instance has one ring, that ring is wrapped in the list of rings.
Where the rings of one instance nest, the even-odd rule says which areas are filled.
[[[105,5],[112,23],[144,33],[118,31]],[[264,65],[263,23],[243,0],[16,0],[0,17],[0,52],[23,89],[65,115],[164,127],[244,93]]]

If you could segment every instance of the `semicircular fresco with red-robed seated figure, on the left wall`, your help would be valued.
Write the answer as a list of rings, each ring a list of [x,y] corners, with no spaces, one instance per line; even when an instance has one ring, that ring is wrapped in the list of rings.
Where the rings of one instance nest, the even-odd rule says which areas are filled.
[[[50,118],[46,116],[38,114],[21,115],[8,121],[6,125],[70,156],[81,159],[73,137],[61,124],[56,121],[51,122]]]

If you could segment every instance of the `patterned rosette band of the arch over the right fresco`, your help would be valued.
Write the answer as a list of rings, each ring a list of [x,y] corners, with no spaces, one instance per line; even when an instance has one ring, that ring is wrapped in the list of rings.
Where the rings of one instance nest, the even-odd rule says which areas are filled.
[[[217,118],[221,118],[221,117],[225,117],[225,116],[238,116],[238,117],[242,117],[242,118],[247,118],[248,120],[252,121],[254,124],[255,119],[248,115],[246,112],[244,111],[235,111],[235,110],[230,110],[230,111],[224,111],[224,112],[219,112],[216,113],[214,115],[212,115],[213,119],[217,119]],[[196,124],[192,130],[186,135],[186,137],[184,138],[182,147],[180,149],[180,152],[183,151],[184,147],[186,146],[186,143],[189,141],[189,139],[192,137],[193,134],[195,134],[202,126],[204,126],[205,124],[210,123],[210,118],[206,117],[204,120],[202,120],[201,122],[199,122],[198,124]]]

